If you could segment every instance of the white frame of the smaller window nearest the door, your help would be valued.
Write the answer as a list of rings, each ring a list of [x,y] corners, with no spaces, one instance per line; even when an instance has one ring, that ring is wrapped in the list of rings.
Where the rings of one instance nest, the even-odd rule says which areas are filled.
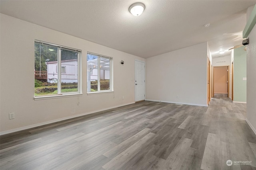
[[[91,53],[91,52],[87,52],[87,54],[90,55],[96,55],[98,56],[98,91],[96,92],[90,92],[90,83],[88,82],[88,77],[91,76],[91,71],[88,70],[87,71],[87,94],[102,94],[102,93],[109,93],[109,92],[114,92],[114,86],[113,86],[113,58],[112,57],[108,57],[108,56],[104,56],[104,55],[99,55],[96,53]],[[109,90],[100,90],[100,58],[104,58],[104,59],[109,59],[109,72],[110,72],[110,80],[109,80],[109,86],[110,89]]]

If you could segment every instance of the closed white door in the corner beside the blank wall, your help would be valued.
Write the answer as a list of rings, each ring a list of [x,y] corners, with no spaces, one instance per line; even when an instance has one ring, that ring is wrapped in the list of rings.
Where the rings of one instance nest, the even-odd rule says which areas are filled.
[[[135,61],[135,102],[145,100],[145,63]]]

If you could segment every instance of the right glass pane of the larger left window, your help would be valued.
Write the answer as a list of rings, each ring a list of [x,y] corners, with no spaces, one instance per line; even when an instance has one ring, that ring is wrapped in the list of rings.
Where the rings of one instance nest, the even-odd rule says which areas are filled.
[[[78,92],[78,52],[61,49],[61,93]]]

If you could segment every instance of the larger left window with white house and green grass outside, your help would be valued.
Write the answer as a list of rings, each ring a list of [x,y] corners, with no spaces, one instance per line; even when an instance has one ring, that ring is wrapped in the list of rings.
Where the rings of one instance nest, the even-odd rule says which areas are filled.
[[[35,96],[80,93],[79,55],[80,50],[36,40]]]

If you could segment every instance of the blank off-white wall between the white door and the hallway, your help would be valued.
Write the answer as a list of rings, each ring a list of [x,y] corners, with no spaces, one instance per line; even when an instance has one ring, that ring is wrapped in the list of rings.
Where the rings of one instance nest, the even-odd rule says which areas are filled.
[[[146,59],[146,100],[207,106],[207,42]]]

